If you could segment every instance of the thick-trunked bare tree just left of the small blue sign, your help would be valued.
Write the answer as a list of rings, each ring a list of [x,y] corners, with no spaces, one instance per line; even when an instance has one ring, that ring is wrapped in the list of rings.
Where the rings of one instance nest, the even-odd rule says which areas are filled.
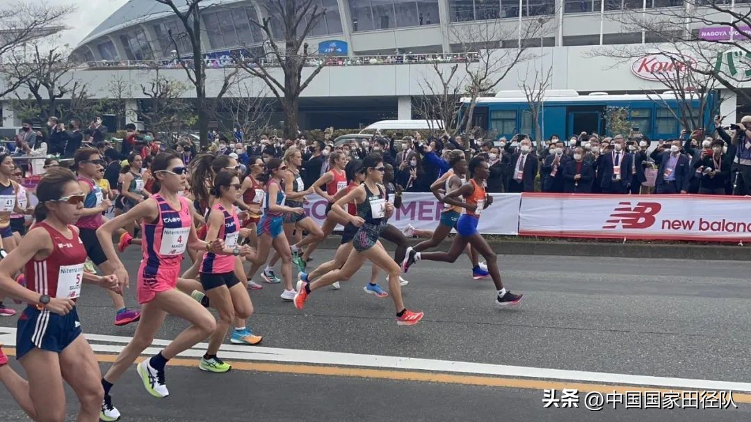
[[[261,23],[252,21],[264,34],[267,51],[263,56],[255,56],[251,61],[237,58],[240,66],[252,76],[261,78],[270,91],[282,104],[285,116],[284,131],[287,137],[296,137],[299,130],[297,110],[300,94],[309,83],[321,73],[326,65],[326,57],[315,58],[309,51],[305,39],[312,29],[326,14],[326,9],[319,8],[315,0],[268,0],[267,17]],[[281,38],[274,31],[277,20]],[[280,44],[283,42],[283,44]],[[303,67],[312,69],[303,77]],[[271,68],[281,68],[284,79],[273,74]]]

